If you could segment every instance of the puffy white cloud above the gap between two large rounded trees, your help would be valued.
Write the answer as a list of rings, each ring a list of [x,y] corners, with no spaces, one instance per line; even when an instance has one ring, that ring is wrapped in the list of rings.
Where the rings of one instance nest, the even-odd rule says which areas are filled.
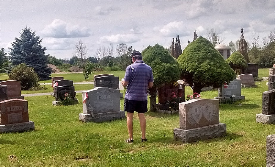
[[[166,37],[175,37],[177,35],[190,35],[189,31],[187,30],[187,26],[183,23],[183,21],[173,21],[164,25],[161,29],[159,27],[155,27],[154,30],[158,30],[162,35]]]

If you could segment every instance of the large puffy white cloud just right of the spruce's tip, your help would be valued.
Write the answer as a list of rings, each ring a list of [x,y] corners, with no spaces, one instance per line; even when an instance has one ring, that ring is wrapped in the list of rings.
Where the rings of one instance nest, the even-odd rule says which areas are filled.
[[[41,33],[44,37],[51,38],[81,38],[91,35],[87,27],[72,25],[59,19],[55,19],[51,24],[47,25]]]

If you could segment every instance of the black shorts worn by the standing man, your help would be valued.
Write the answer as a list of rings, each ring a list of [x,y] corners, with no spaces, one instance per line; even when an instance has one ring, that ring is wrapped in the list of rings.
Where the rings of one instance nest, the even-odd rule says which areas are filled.
[[[133,113],[134,111],[138,113],[146,113],[147,109],[147,100],[138,101],[138,100],[128,100],[124,99],[124,111]]]

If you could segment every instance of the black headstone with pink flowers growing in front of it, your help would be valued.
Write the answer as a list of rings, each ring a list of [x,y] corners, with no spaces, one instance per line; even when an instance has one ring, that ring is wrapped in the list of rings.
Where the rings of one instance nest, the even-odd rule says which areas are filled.
[[[68,93],[70,97],[73,99],[75,98],[75,87],[74,86],[56,86],[54,87],[54,96],[55,100],[64,100],[65,98],[65,93]]]

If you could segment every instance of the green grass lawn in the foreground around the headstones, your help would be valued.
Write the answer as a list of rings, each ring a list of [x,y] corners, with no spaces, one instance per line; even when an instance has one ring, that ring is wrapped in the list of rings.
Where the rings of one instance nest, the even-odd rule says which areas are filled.
[[[177,114],[146,113],[147,139],[141,143],[137,114],[134,115],[134,143],[128,137],[126,119],[83,123],[78,120],[82,104],[52,106],[51,96],[25,97],[29,104],[32,132],[0,134],[2,167],[103,167],[103,166],[183,166],[183,167],[265,167],[266,136],[275,134],[275,125],[259,124],[265,81],[258,88],[242,89],[245,100],[220,104],[220,122],[227,124],[221,138],[183,144],[173,140],[179,127]],[[191,88],[186,87],[186,95]],[[216,90],[202,92],[214,98]],[[77,94],[81,102],[81,94]],[[121,109],[123,99],[120,101]]]

